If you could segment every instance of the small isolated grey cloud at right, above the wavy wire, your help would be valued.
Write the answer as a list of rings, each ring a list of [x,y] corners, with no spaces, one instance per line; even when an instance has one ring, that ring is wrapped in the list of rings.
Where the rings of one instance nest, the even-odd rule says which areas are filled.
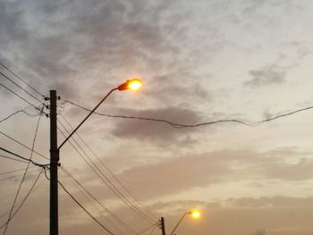
[[[284,83],[286,71],[275,65],[270,65],[262,68],[261,70],[253,70],[249,72],[252,80],[246,81],[244,85],[251,88],[260,88],[269,85],[279,85]]]

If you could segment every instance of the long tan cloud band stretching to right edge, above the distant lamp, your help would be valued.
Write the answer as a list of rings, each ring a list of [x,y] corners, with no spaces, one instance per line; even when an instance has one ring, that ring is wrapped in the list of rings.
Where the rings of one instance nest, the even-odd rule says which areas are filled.
[[[300,181],[313,179],[313,160],[289,163],[294,156],[309,155],[288,149],[267,152],[222,150],[202,155],[175,155],[157,163],[132,167],[120,173],[131,191],[142,198],[169,196],[214,184],[251,179]],[[131,157],[131,156],[130,156]],[[267,182],[268,183],[268,182]]]

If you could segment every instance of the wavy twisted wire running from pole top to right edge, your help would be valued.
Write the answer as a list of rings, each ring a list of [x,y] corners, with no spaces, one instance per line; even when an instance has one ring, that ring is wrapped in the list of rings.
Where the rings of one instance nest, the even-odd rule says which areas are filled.
[[[63,100],[63,101],[64,101],[64,104],[69,103],[71,105],[80,107],[81,109],[83,109],[85,111],[90,111],[89,108],[86,108],[82,105],[78,105],[78,104],[76,104],[70,100]],[[200,126],[213,125],[213,124],[222,123],[222,122],[235,122],[235,123],[239,123],[239,124],[242,124],[245,126],[256,127],[256,126],[261,125],[265,122],[271,122],[271,121],[274,121],[275,119],[290,116],[292,114],[300,113],[303,111],[308,111],[310,109],[313,109],[313,105],[309,106],[309,107],[300,108],[300,109],[294,110],[294,111],[289,112],[289,113],[279,114],[279,115],[276,115],[276,116],[271,117],[271,118],[266,118],[266,119],[260,120],[258,122],[244,122],[244,121],[237,120],[237,119],[225,119],[225,120],[216,120],[213,122],[199,122],[196,124],[182,124],[182,123],[170,122],[170,121],[167,121],[165,119],[156,119],[156,118],[148,118],[148,117],[140,117],[140,116],[112,115],[112,114],[97,113],[97,112],[95,112],[95,113],[97,115],[112,117],[112,118],[135,119],[135,120],[151,121],[151,122],[165,122],[165,123],[169,124],[170,126],[172,126],[173,128],[182,129],[182,128],[195,128],[195,127],[200,127]]]

